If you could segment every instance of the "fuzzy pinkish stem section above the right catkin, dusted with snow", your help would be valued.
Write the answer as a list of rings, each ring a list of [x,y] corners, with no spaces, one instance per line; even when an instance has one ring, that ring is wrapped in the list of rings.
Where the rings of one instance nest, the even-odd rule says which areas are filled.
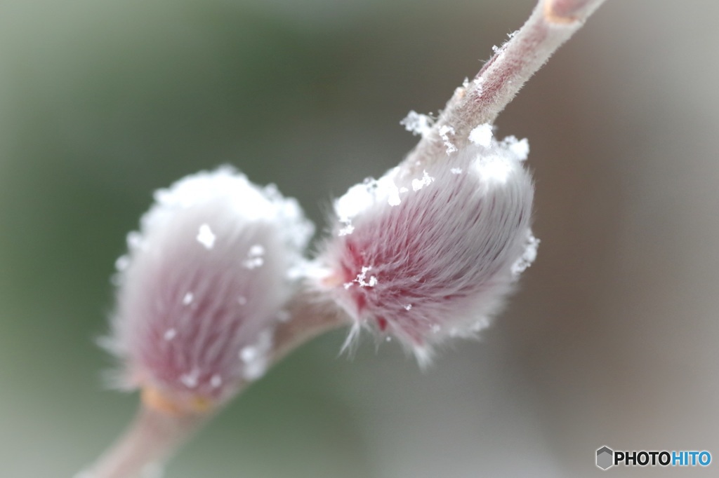
[[[523,27],[495,50],[495,55],[475,79],[454,91],[434,126],[408,154],[407,164],[413,167],[444,157],[447,153],[441,131],[449,134],[447,139],[462,149],[469,141],[472,128],[482,123],[494,123],[522,85],[603,2],[540,0]]]

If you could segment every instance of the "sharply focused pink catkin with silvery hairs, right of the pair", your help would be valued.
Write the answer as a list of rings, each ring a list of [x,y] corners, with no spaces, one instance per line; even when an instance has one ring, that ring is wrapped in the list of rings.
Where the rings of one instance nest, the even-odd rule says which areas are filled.
[[[533,259],[526,143],[468,144],[350,189],[321,253],[328,289],[357,327],[400,339],[421,362],[487,325]]]

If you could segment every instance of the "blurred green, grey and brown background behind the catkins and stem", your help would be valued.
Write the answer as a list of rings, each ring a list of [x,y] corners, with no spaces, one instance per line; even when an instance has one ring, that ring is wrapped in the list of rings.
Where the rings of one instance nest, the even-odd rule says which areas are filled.
[[[480,343],[421,372],[316,339],[166,476],[590,477],[603,445],[719,461],[718,5],[609,0],[500,116],[530,139],[542,243]],[[532,6],[4,0],[0,476],[71,477],[132,417],[93,337],[154,189],[234,164],[321,229]]]

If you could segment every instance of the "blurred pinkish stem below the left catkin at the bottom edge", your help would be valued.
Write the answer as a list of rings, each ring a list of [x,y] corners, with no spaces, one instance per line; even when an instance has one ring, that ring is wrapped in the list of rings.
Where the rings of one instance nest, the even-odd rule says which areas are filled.
[[[124,435],[77,478],[140,478],[148,467],[162,467],[175,449],[210,418],[212,413],[168,413],[140,406]]]

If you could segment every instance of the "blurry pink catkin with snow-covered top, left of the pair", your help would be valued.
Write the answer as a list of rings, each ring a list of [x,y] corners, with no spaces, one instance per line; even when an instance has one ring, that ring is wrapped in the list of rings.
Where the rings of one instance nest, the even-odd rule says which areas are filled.
[[[119,261],[117,308],[106,344],[119,384],[175,403],[233,395],[262,375],[313,227],[295,200],[230,169],[156,193]]]

